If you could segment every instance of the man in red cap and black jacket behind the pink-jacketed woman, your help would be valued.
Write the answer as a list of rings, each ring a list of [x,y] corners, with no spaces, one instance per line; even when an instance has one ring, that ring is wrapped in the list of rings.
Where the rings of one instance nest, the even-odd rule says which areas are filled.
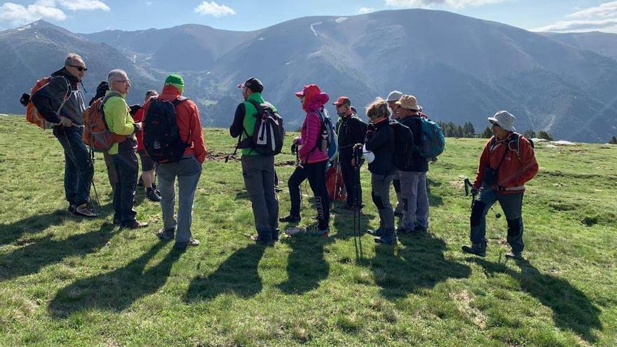
[[[365,139],[367,125],[358,118],[351,110],[351,101],[348,97],[339,97],[339,100],[333,102],[337,107],[339,121],[337,122],[337,137],[339,139],[339,164],[341,165],[341,174],[343,182],[347,190],[347,205],[348,210],[353,210],[355,207],[356,194],[358,194],[358,210],[362,210],[362,186],[360,185],[360,170],[358,176],[355,176],[355,170],[351,165],[353,158],[353,146],[362,144]],[[356,183],[358,184],[355,189]]]

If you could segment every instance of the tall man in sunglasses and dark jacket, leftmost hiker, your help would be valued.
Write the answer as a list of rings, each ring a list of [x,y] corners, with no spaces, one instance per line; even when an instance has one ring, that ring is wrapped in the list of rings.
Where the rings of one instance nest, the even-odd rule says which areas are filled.
[[[89,205],[94,168],[83,143],[86,105],[79,88],[87,70],[79,55],[69,53],[65,67],[51,74],[49,83],[32,95],[32,104],[46,121],[55,124],[53,135],[65,150],[65,197],[69,202],[69,212],[96,217]]]

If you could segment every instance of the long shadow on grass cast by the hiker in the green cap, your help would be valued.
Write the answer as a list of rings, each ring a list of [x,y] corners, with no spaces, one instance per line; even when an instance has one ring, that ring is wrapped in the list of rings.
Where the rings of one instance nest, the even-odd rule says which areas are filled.
[[[140,297],[156,292],[167,281],[172,265],[182,254],[177,250],[170,250],[161,262],[144,271],[163,245],[165,243],[156,243],[122,268],[68,285],[57,292],[48,311],[56,318],[67,318],[76,311],[93,307],[123,311]]]

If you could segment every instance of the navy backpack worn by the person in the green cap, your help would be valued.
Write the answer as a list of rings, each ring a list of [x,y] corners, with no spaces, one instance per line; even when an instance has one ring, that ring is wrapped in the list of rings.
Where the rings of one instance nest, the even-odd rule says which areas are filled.
[[[148,113],[144,117],[144,149],[156,163],[177,163],[189,147],[189,140],[180,138],[177,124],[176,107],[180,102],[188,100],[178,97],[172,102],[153,97],[150,99]]]

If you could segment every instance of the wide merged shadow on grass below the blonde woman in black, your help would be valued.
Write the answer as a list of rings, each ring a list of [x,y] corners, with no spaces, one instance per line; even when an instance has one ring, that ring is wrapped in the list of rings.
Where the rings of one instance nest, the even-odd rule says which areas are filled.
[[[376,245],[374,259],[367,260],[381,295],[388,300],[471,273],[469,266],[445,259],[445,242],[430,233],[403,236],[400,243],[398,247]]]

